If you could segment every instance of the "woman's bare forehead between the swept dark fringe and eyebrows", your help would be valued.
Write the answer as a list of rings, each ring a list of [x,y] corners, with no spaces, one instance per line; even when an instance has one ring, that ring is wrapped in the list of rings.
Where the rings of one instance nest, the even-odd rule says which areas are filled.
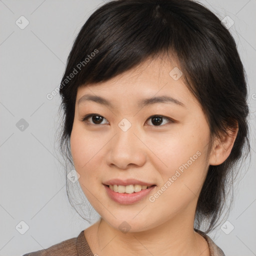
[[[76,102],[84,94],[108,98],[113,103],[154,96],[169,96],[178,101],[197,103],[183,82],[182,70],[166,59],[147,59],[107,81],[78,87]]]

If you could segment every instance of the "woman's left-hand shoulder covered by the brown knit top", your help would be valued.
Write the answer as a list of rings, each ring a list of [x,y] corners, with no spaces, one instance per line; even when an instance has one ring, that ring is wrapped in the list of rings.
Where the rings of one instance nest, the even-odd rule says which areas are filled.
[[[77,237],[73,237],[57,244],[54,244],[46,249],[33,251],[26,253],[23,256],[77,256],[77,247],[84,243],[83,230],[79,233]]]

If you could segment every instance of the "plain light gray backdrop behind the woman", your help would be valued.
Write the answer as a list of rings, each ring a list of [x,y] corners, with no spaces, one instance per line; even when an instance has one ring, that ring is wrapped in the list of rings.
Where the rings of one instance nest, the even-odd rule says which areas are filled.
[[[226,256],[256,255],[256,0],[201,2],[220,19],[234,21],[229,30],[248,76],[251,111],[251,162],[242,165],[230,215],[209,235]],[[103,3],[0,0],[0,255],[47,248],[90,225],[68,202],[64,168],[54,152],[60,98],[48,100],[46,94],[59,85],[80,27]],[[15,23],[25,24],[21,15],[29,21],[24,29]],[[28,123],[23,130],[17,127],[21,118]],[[24,234],[20,221],[29,226]]]

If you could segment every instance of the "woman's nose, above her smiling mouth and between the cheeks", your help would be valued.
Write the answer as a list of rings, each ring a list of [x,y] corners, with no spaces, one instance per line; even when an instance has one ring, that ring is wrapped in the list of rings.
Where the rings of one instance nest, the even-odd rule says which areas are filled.
[[[108,143],[106,163],[120,169],[143,166],[146,161],[146,146],[138,138],[137,132],[134,132],[131,127],[126,131],[117,127],[115,132],[111,142]]]

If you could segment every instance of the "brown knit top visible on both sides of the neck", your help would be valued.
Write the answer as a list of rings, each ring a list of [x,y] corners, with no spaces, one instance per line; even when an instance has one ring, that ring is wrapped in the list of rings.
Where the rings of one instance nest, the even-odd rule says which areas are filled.
[[[207,241],[210,256],[225,256],[224,252],[212,241],[212,239],[200,230],[195,230]],[[94,256],[86,241],[83,230],[77,237],[70,238],[54,244],[47,249],[26,253],[23,256]],[[97,255],[97,254],[95,254]]]

